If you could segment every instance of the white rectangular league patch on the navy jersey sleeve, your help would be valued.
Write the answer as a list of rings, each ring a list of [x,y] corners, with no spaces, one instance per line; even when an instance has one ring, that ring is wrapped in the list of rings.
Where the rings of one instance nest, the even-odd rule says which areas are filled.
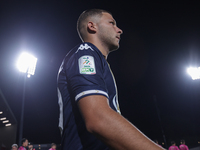
[[[96,74],[94,57],[82,56],[78,59],[80,74]]]

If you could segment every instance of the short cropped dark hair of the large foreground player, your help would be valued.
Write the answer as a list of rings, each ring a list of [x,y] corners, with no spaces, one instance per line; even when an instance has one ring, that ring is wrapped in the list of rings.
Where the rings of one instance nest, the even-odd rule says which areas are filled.
[[[109,11],[103,10],[103,9],[88,9],[88,10],[85,10],[85,11],[79,16],[78,21],[77,21],[77,31],[78,31],[78,34],[79,34],[79,36],[80,36],[80,38],[81,38],[82,40],[84,40],[84,35],[83,35],[83,33],[82,33],[82,29],[83,29],[83,27],[84,27],[84,21],[85,21],[88,17],[93,17],[93,16],[101,17],[103,12],[111,14]],[[112,15],[112,14],[111,14],[111,15]]]

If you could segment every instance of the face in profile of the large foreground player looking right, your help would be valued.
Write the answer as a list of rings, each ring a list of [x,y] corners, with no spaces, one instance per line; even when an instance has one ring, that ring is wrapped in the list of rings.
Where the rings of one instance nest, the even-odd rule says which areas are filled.
[[[109,51],[113,51],[119,48],[120,35],[122,30],[116,25],[115,20],[109,13],[102,13],[98,25],[98,36],[108,46]]]

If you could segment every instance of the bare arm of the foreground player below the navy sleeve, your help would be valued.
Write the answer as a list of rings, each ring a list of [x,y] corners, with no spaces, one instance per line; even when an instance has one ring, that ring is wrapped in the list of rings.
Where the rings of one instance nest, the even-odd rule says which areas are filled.
[[[116,150],[163,150],[134,125],[110,108],[105,96],[91,95],[79,100],[87,130]]]

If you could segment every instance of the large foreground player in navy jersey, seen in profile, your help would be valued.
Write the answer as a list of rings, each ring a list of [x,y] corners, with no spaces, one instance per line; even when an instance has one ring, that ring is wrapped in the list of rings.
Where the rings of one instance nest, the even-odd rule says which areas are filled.
[[[83,43],[65,56],[58,73],[62,150],[162,150],[120,113],[108,54],[122,30],[105,10],[84,11],[77,30]]]

